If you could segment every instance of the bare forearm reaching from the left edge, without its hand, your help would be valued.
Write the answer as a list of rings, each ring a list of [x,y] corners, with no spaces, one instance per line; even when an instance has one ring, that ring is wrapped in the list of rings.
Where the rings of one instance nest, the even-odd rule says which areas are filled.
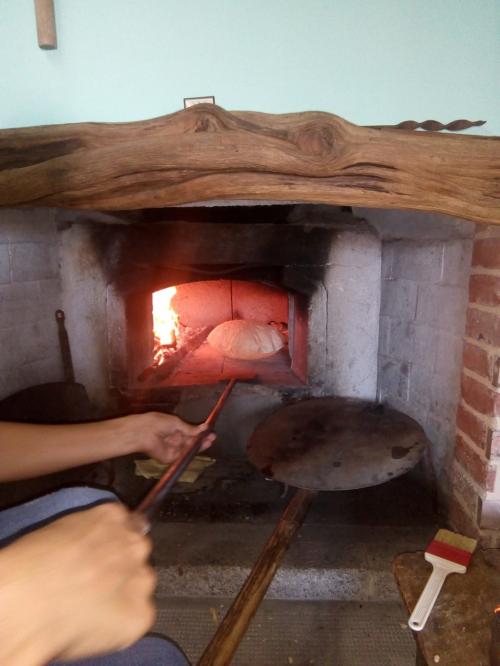
[[[131,453],[124,419],[82,425],[0,422],[0,481],[29,479]]]

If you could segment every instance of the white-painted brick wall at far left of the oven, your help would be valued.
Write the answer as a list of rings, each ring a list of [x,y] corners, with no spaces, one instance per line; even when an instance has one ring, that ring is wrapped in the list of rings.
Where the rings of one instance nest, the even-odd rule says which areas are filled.
[[[62,379],[54,319],[60,293],[53,211],[1,210],[0,399]]]

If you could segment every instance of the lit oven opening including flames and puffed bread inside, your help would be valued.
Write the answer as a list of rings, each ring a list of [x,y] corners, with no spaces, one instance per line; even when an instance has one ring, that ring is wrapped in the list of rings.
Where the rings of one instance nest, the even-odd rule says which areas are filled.
[[[150,296],[149,363],[142,385],[211,384],[232,377],[307,381],[303,297],[243,280],[172,285]]]

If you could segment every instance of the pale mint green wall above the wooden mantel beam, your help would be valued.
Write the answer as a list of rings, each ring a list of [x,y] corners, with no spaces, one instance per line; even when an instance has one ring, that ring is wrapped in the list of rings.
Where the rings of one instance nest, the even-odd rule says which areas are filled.
[[[0,127],[125,121],[188,96],[359,124],[485,119],[500,135],[500,0],[0,0]]]

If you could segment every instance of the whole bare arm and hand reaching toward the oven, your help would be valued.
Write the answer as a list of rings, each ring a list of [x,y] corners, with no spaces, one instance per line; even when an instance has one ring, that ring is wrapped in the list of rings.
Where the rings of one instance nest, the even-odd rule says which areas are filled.
[[[0,481],[29,479],[79,465],[145,453],[172,462],[202,432],[177,416],[149,412],[82,425],[0,422]],[[210,446],[207,435],[203,448]]]

